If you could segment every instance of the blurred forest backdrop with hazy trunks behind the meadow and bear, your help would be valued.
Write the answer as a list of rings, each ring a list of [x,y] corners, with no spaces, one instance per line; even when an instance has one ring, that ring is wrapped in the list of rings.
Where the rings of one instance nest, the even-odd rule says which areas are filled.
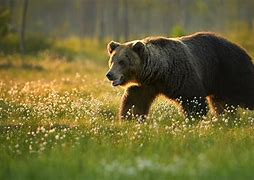
[[[253,9],[253,0],[0,0],[0,51],[55,49],[71,58],[75,52],[59,41],[82,48],[86,39],[105,48],[111,39],[196,31],[218,32],[252,51]]]

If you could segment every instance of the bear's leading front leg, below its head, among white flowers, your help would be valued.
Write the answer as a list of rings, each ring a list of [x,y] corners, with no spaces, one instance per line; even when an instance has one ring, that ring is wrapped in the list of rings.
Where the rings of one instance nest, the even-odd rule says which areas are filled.
[[[122,97],[120,119],[132,119],[137,116],[146,118],[156,95],[155,90],[150,87],[129,87]]]

